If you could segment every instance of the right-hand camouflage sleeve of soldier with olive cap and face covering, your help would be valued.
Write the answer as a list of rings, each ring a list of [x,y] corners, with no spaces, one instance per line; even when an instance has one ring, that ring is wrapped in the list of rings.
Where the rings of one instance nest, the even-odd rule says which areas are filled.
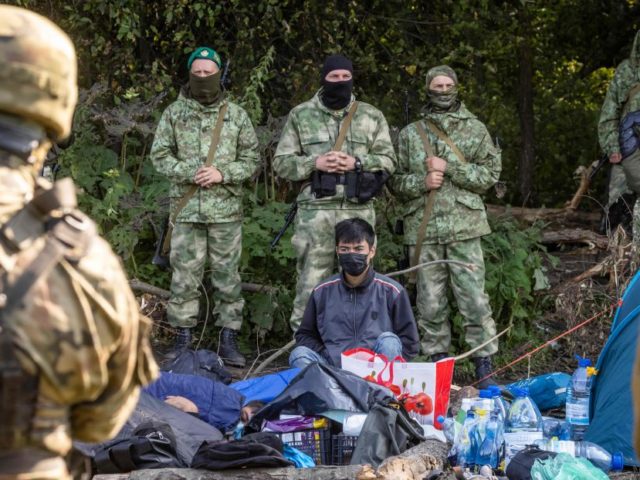
[[[502,160],[500,151],[494,146],[489,132],[482,124],[478,128],[477,137],[482,140],[473,155],[466,162],[451,155],[445,175],[456,186],[482,194],[500,178]]]

